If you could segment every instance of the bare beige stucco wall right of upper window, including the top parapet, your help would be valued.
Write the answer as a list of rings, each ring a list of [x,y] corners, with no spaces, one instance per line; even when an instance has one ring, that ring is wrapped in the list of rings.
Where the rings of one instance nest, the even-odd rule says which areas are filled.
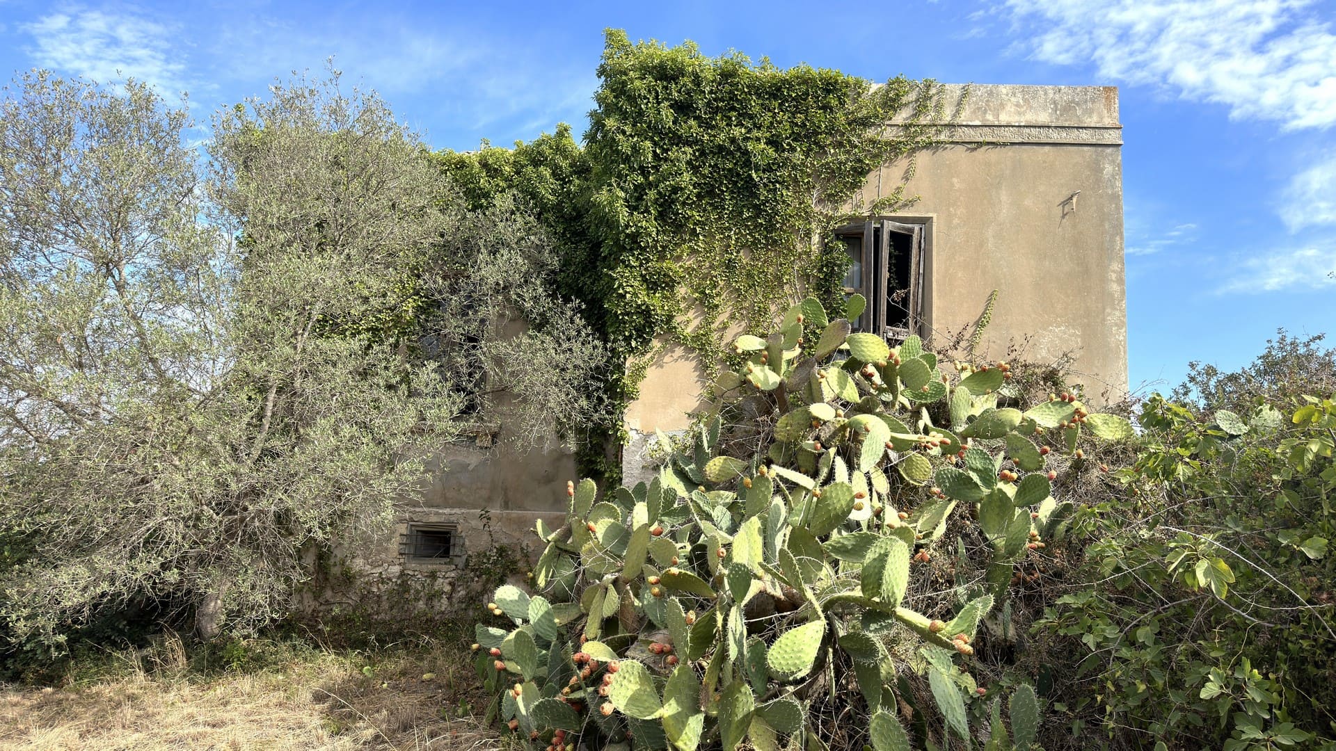
[[[926,333],[969,326],[999,289],[986,355],[1030,337],[1025,357],[1070,353],[1094,401],[1117,400],[1128,389],[1117,90],[974,86],[966,102],[957,143],[918,155],[906,195],[919,199],[899,215],[930,224]],[[904,172],[874,172],[866,198]]]

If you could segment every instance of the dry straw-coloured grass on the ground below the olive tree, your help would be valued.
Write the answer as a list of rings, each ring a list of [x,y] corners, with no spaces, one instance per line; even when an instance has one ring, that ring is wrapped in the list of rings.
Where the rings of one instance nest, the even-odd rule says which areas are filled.
[[[0,684],[0,748],[506,748],[472,715],[481,694],[453,648],[309,651],[214,676],[162,661],[135,655],[123,675],[61,688]]]

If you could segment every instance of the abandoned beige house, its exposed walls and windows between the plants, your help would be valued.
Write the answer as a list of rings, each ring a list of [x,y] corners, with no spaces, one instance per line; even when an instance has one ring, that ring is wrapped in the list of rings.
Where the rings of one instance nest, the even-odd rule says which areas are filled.
[[[949,100],[958,95],[949,87]],[[1074,355],[1071,370],[1090,393],[1124,394],[1121,144],[1114,87],[971,86],[946,144],[918,155],[906,190],[919,196],[911,212],[839,230],[854,259],[846,285],[870,301],[856,325],[892,339],[959,330],[1005,281],[986,355],[1029,337],[1027,357]],[[868,175],[864,198],[903,175],[904,164],[884,164]],[[888,277],[899,289],[887,289]],[[681,347],[651,365],[624,417],[629,482],[647,474],[656,430],[687,428],[701,381]],[[557,448],[521,456],[504,429],[498,438],[490,448],[445,448],[432,486],[409,502],[393,536],[355,553],[354,567],[382,581],[430,580],[436,596],[449,597],[470,552],[533,548],[538,517],[558,527],[574,457]]]

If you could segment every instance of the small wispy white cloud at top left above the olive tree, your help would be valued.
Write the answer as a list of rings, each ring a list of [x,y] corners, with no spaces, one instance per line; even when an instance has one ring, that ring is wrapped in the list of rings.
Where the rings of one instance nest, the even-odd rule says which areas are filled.
[[[172,31],[128,13],[76,9],[43,16],[23,31],[32,35],[37,65],[99,83],[127,78],[158,87],[164,95],[188,88],[184,56]]]

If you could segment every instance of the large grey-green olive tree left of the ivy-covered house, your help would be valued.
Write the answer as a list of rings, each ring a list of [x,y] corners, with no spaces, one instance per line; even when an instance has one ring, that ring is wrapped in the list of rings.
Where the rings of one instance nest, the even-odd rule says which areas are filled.
[[[504,337],[433,323],[481,283],[438,271],[477,218],[378,98],[274,87],[207,160],[191,127],[139,83],[36,72],[0,102],[0,636],[59,648],[146,601],[204,636],[282,616],[303,553],[383,529],[500,381]],[[552,322],[528,335],[597,354],[544,245],[516,246]],[[596,409],[546,388],[521,404]]]

